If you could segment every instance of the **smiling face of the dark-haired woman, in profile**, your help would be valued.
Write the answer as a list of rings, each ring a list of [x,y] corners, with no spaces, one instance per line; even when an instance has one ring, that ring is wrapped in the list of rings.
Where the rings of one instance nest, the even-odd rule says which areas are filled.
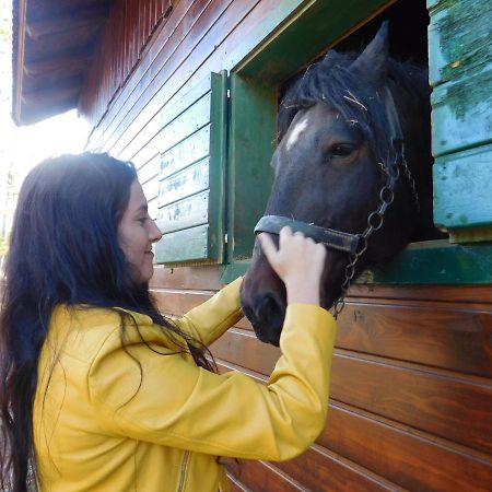
[[[151,279],[154,272],[152,244],[161,237],[161,231],[149,216],[142,187],[134,180],[127,209],[118,224],[118,243],[133,267],[136,282],[144,283]]]

